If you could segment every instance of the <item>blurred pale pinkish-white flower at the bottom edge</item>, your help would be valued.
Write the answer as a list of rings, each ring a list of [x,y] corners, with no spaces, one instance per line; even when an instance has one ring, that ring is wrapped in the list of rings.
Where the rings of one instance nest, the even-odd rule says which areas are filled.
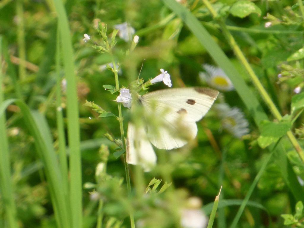
[[[202,202],[197,197],[188,199],[188,206],[181,210],[181,227],[184,228],[205,228],[208,224],[208,217],[200,209]]]

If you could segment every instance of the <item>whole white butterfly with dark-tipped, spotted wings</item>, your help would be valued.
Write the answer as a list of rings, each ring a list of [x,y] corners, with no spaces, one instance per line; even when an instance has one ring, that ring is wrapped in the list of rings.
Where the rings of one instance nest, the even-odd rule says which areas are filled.
[[[194,139],[195,122],[205,116],[218,94],[210,88],[192,87],[162,89],[141,96],[143,116],[154,117],[158,124],[151,124],[147,118],[147,126],[129,122],[126,162],[140,164],[144,171],[150,171],[157,160],[151,143],[159,149],[171,150]]]

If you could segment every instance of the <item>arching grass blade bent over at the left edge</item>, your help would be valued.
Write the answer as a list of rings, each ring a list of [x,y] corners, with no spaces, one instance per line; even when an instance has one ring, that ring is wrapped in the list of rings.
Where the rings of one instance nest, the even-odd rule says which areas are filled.
[[[54,206],[55,218],[60,228],[71,227],[66,198],[62,191],[63,181],[60,175],[56,153],[53,148],[50,129],[46,120],[39,112],[30,111],[21,100],[9,99],[0,105],[0,118],[4,116],[8,105],[15,103],[19,106],[23,119],[35,139],[37,152],[43,162],[48,180],[50,195]]]

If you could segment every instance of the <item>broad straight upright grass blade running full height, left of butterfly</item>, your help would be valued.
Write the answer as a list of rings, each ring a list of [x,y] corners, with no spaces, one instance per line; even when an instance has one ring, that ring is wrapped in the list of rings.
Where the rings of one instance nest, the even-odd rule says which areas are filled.
[[[81,153],[79,133],[79,111],[76,90],[76,77],[74,74],[74,55],[71,42],[71,31],[64,10],[63,2],[54,0],[58,17],[60,44],[63,53],[64,73],[67,80],[67,130],[70,147],[70,207],[72,213],[72,227],[82,227],[82,178]]]

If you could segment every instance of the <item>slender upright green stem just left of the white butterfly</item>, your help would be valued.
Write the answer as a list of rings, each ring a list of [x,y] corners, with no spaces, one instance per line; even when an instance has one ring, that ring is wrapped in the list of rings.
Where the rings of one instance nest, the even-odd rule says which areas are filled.
[[[118,80],[118,70],[116,68],[115,60],[112,59],[113,69],[114,69],[114,76],[115,76],[115,86],[116,90],[119,90],[119,80]],[[118,115],[119,115],[119,128],[120,128],[120,134],[121,134],[121,141],[123,143],[123,148],[126,149],[126,143],[125,143],[125,133],[123,130],[123,115],[121,112],[121,103],[118,103]],[[130,172],[129,172],[129,166],[126,162],[126,158],[123,155],[123,162],[125,165],[125,171],[126,171],[126,182],[127,182],[127,189],[128,189],[128,195],[131,195],[131,183],[130,183]],[[134,222],[134,215],[133,215],[133,209],[130,210],[130,222],[131,227],[135,228],[135,222]]]

